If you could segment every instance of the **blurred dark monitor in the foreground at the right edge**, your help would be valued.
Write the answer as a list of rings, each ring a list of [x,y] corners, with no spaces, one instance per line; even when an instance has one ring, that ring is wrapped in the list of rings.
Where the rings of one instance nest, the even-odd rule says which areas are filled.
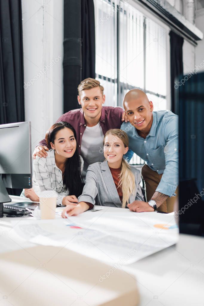
[[[204,236],[204,73],[177,82],[180,233]]]

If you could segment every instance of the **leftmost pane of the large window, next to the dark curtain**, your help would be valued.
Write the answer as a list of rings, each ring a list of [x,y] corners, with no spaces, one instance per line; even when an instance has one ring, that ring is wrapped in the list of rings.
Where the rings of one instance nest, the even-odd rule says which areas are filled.
[[[105,87],[106,105],[117,106],[116,19],[113,1],[95,0],[96,79]]]

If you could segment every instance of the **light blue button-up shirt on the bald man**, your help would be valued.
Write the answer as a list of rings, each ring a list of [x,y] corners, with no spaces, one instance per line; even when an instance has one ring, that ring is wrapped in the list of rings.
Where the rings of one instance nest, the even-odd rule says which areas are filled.
[[[146,138],[124,122],[121,129],[128,134],[129,149],[142,158],[158,174],[163,174],[156,191],[172,196],[178,185],[178,116],[170,110],[152,112],[153,122]],[[129,154],[128,154],[129,153]],[[128,151],[127,157],[130,157]]]

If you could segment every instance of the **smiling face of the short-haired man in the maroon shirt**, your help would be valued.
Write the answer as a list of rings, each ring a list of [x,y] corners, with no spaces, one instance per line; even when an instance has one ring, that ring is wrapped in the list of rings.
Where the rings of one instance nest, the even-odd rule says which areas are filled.
[[[100,118],[102,104],[105,103],[105,95],[102,95],[99,86],[84,89],[81,91],[81,95],[78,95],[78,103],[82,106],[85,118]]]

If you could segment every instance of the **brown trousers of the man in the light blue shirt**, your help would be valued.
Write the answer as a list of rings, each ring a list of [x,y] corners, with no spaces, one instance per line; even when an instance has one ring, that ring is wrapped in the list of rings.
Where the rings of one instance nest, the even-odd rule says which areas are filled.
[[[147,201],[151,200],[151,197],[156,191],[156,188],[161,181],[162,174],[158,174],[156,171],[153,171],[148,167],[148,165],[144,165],[142,167],[142,177],[144,179],[145,185],[146,185],[146,195],[147,195]],[[159,207],[158,211],[164,211],[164,212],[173,212],[174,211],[174,205],[176,204],[178,200],[178,187],[175,191],[176,196],[168,197]]]

